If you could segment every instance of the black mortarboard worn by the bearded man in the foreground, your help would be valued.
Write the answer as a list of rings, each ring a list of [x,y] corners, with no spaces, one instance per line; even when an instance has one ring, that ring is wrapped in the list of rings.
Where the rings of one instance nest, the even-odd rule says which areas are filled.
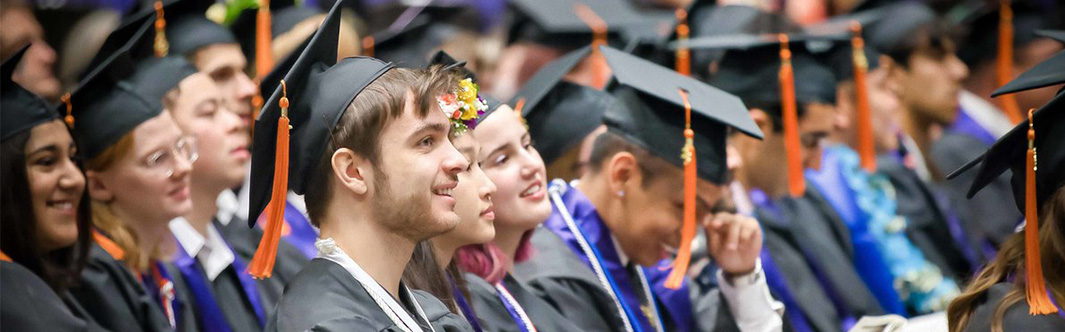
[[[260,213],[269,203],[274,185],[276,133],[283,95],[291,101],[289,119],[289,188],[304,194],[307,180],[328,146],[330,135],[341,115],[355,97],[394,66],[372,57],[348,57],[337,61],[340,38],[340,4],[337,2],[284,76],[285,87],[278,86],[256,120],[251,159],[251,197],[248,225],[255,226]]]

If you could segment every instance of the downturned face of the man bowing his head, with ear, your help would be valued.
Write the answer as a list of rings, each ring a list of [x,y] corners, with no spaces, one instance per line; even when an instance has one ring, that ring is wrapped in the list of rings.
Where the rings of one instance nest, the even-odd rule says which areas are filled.
[[[623,220],[611,230],[625,254],[633,262],[653,266],[681,245],[684,226],[684,172],[679,167],[634,185],[621,198]],[[641,181],[649,181],[642,178]],[[697,181],[695,220],[701,222],[710,208],[721,198],[722,187],[707,181]]]

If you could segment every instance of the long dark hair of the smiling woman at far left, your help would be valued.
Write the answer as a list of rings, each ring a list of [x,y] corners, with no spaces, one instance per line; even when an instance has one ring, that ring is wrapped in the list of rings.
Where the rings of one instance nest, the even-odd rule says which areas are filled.
[[[88,258],[92,238],[88,189],[78,204],[78,242],[73,246],[45,252],[37,244],[37,218],[33,213],[30,181],[26,169],[26,144],[30,131],[0,143],[0,250],[12,261],[33,271],[56,293],[73,285]],[[78,168],[84,176],[80,161]]]

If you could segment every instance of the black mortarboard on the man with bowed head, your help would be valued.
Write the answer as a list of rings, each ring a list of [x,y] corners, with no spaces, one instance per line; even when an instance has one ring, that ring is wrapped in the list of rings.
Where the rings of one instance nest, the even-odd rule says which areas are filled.
[[[690,94],[698,175],[714,183],[724,183],[726,178],[730,127],[761,138],[761,131],[738,97],[625,52],[607,47],[602,50],[617,79],[610,88],[617,106],[608,107],[603,116],[609,132],[684,167],[685,102],[678,93],[684,89]]]

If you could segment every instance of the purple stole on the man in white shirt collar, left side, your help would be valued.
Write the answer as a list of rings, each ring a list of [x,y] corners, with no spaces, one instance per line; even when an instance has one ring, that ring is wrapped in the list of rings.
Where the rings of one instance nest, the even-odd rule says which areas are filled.
[[[229,245],[226,246],[227,249]],[[244,273],[245,266],[244,262],[241,261],[235,254],[233,255],[233,270],[236,271],[236,278],[241,282],[241,288],[244,290],[244,298],[251,303],[252,310],[256,312],[256,318],[259,320],[259,327],[266,326],[266,316],[263,311],[262,300],[259,298],[259,290],[256,288],[256,282],[250,275]],[[178,267],[181,271],[181,277],[184,277],[185,283],[189,285],[190,290],[193,294],[193,301],[196,302],[196,313],[199,317],[200,322],[202,322],[204,332],[234,332],[232,327],[226,320],[226,317],[222,313],[222,308],[218,305],[218,301],[214,298],[214,293],[211,290],[211,281],[208,280],[204,273],[201,273],[199,269],[196,268],[199,264],[199,260],[194,256],[190,256],[183,248],[178,248],[178,256],[174,260],[174,265]],[[225,271],[223,271],[225,273]]]

